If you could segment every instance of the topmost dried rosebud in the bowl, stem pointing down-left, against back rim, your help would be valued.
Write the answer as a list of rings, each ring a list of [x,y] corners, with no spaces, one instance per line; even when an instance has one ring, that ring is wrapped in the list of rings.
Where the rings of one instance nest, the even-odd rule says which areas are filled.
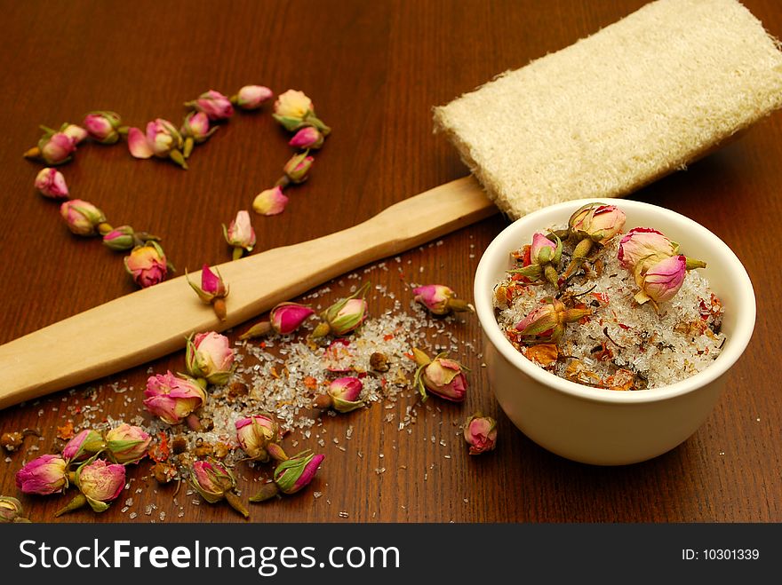
[[[570,278],[571,274],[584,264],[594,244],[604,246],[621,233],[625,220],[625,212],[615,205],[587,203],[577,209],[568,220],[568,232],[578,238],[579,243],[573,250],[571,264],[565,270],[563,278]]]

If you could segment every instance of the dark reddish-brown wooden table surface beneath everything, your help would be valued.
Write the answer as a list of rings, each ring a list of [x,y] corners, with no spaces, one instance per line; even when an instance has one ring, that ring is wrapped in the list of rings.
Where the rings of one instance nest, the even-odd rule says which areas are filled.
[[[21,154],[35,145],[38,124],[78,123],[93,109],[116,110],[137,126],[156,116],[179,121],[186,99],[211,88],[228,93],[247,83],[262,83],[277,93],[289,88],[307,92],[334,130],[316,154],[310,180],[291,190],[283,215],[252,216],[256,250],[269,249],[354,225],[393,202],[464,176],[455,150],[432,133],[433,106],[563,48],[642,4],[4,0],[0,342],[134,290],[121,256],[97,239],[68,233],[58,206],[36,194],[33,179],[40,165]],[[771,34],[782,35],[782,9],[776,2],[747,0],[746,5]],[[291,152],[287,136],[267,106],[236,115],[221,127],[196,150],[187,172],[164,162],[133,160],[124,144],[84,145],[62,170],[72,196],[99,205],[115,225],[130,223],[162,235],[178,268],[194,270],[204,262],[227,261],[219,224],[236,210],[249,209],[252,197],[280,175]],[[717,233],[745,263],[759,293],[751,344],[731,371],[714,413],[682,446],[650,462],[618,468],[551,455],[503,415],[483,374],[478,347],[458,356],[472,370],[466,402],[432,399],[430,410],[419,407],[410,433],[397,431],[395,421],[387,423],[388,411],[381,405],[347,417],[324,417],[315,430],[325,446],[315,443],[315,431],[312,439],[300,441],[301,447],[326,455],[314,485],[283,501],[252,507],[251,520],[782,520],[782,277],[775,262],[782,223],[780,144],[782,115],[776,114],[686,172],[632,195]],[[506,219],[492,217],[444,237],[442,245],[405,253],[401,262],[417,272],[417,281],[443,282],[469,296],[478,259],[504,225]],[[376,267],[371,278],[409,300],[407,283],[395,271]],[[344,292],[339,284],[332,288],[329,298]],[[460,343],[480,343],[474,316],[449,328]],[[77,345],[74,340],[75,360]],[[55,427],[68,419],[77,427],[84,423],[80,407],[98,406],[103,415],[137,414],[149,368],[181,369],[182,360],[183,352],[177,352],[0,412],[0,431],[44,432],[43,440],[28,438],[19,452],[0,456],[0,493],[18,495],[34,521],[51,521],[68,496],[21,496],[14,474],[22,463],[56,447]],[[134,390],[117,395],[112,383]],[[88,388],[95,389],[94,402],[85,398]],[[132,399],[126,402],[125,396]],[[401,400],[417,401],[412,392]],[[476,409],[498,419],[499,445],[494,453],[470,457],[456,431]],[[344,438],[348,426],[354,427],[352,439],[334,443],[332,438]],[[30,451],[31,446],[40,451]],[[379,468],[386,470],[376,472]],[[247,480],[268,475],[266,468],[259,473],[245,463],[237,472],[245,497],[251,491]],[[166,522],[238,518],[226,506],[195,505],[193,495],[180,493],[179,505],[174,504],[174,486],[157,486],[148,462],[130,469],[129,478],[130,489],[107,512],[81,510],[61,519],[159,522],[161,511]],[[315,498],[315,491],[323,496]],[[123,512],[129,497],[134,502]],[[137,514],[133,520],[132,512]]]

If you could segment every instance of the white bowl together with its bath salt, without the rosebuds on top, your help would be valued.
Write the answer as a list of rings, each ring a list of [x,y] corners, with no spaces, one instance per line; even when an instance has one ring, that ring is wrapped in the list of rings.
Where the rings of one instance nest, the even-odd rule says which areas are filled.
[[[673,256],[693,264],[703,260],[706,267],[688,270],[673,297],[644,298],[634,274],[616,261],[619,234],[604,248],[589,250],[589,257],[600,250],[599,274],[585,279],[581,273],[594,267],[587,263],[586,271],[573,270],[563,285],[575,238],[564,243],[557,265],[561,290],[547,282],[557,281],[555,275],[541,271],[531,279],[539,284],[503,302],[499,286],[517,282],[508,281],[507,271],[530,262],[513,253],[521,256],[535,233],[567,227],[588,203],[594,201],[561,203],[522,217],[484,252],[475,274],[484,360],[500,406],[540,446],[579,462],[641,462],[680,445],[714,408],[728,370],[752,336],[754,292],[744,266],[714,233],[674,211],[620,201],[613,204],[626,216],[624,233],[654,228],[678,242]],[[535,335],[521,335],[514,322],[537,307],[563,309],[557,293],[572,309],[562,336],[534,326],[526,331]]]

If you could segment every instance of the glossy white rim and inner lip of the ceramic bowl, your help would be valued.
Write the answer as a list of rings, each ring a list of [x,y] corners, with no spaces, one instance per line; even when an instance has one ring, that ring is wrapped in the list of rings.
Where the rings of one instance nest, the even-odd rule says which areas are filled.
[[[736,328],[730,336],[730,343],[726,344],[719,357],[714,360],[714,363],[710,364],[703,371],[680,382],[668,384],[659,388],[641,391],[606,391],[593,388],[592,386],[571,382],[570,380],[556,376],[555,374],[536,366],[530,360],[527,360],[521,353],[516,351],[515,347],[502,333],[494,315],[492,297],[496,282],[493,281],[493,278],[488,273],[488,265],[490,264],[491,259],[497,257],[498,254],[507,257],[513,249],[518,248],[518,241],[516,241],[515,245],[510,243],[510,241],[514,238],[512,234],[515,234],[515,232],[521,229],[519,227],[520,225],[535,225],[537,220],[539,229],[544,229],[546,225],[543,225],[542,220],[538,220],[538,217],[560,210],[563,212],[562,223],[564,224],[573,211],[579,209],[582,205],[586,205],[586,203],[595,202],[605,205],[617,205],[619,209],[633,209],[674,216],[675,219],[682,222],[688,229],[697,230],[710,241],[719,258],[708,258],[707,261],[722,263],[723,268],[725,270],[730,270],[732,278],[738,281],[738,289],[742,289],[746,292],[746,302],[742,299],[742,302],[739,303],[737,307],[734,307],[734,310],[738,311],[739,314],[736,319]],[[551,222],[548,222],[547,225],[550,224]],[[724,241],[703,225],[690,219],[690,217],[683,216],[671,209],[666,209],[658,205],[636,202],[629,199],[609,200],[606,202],[604,199],[596,198],[555,203],[554,205],[537,209],[530,214],[515,220],[515,222],[502,230],[483,252],[483,256],[475,271],[474,296],[475,311],[477,312],[478,320],[481,323],[484,335],[489,337],[491,344],[493,344],[497,351],[513,364],[515,368],[520,369],[525,375],[530,376],[533,380],[555,391],[560,391],[579,399],[610,404],[637,404],[673,399],[676,396],[698,390],[698,388],[713,382],[727,372],[746,349],[746,345],[749,343],[754,330],[756,311],[752,281],[750,281],[744,265],[741,264],[741,261],[736,254],[733,253],[733,250],[731,250]]]

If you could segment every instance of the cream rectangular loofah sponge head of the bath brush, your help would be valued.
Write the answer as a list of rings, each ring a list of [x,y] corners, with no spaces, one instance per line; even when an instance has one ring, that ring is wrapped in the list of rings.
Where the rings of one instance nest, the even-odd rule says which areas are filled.
[[[511,217],[618,197],[782,106],[782,52],[735,0],[658,0],[435,108]]]

